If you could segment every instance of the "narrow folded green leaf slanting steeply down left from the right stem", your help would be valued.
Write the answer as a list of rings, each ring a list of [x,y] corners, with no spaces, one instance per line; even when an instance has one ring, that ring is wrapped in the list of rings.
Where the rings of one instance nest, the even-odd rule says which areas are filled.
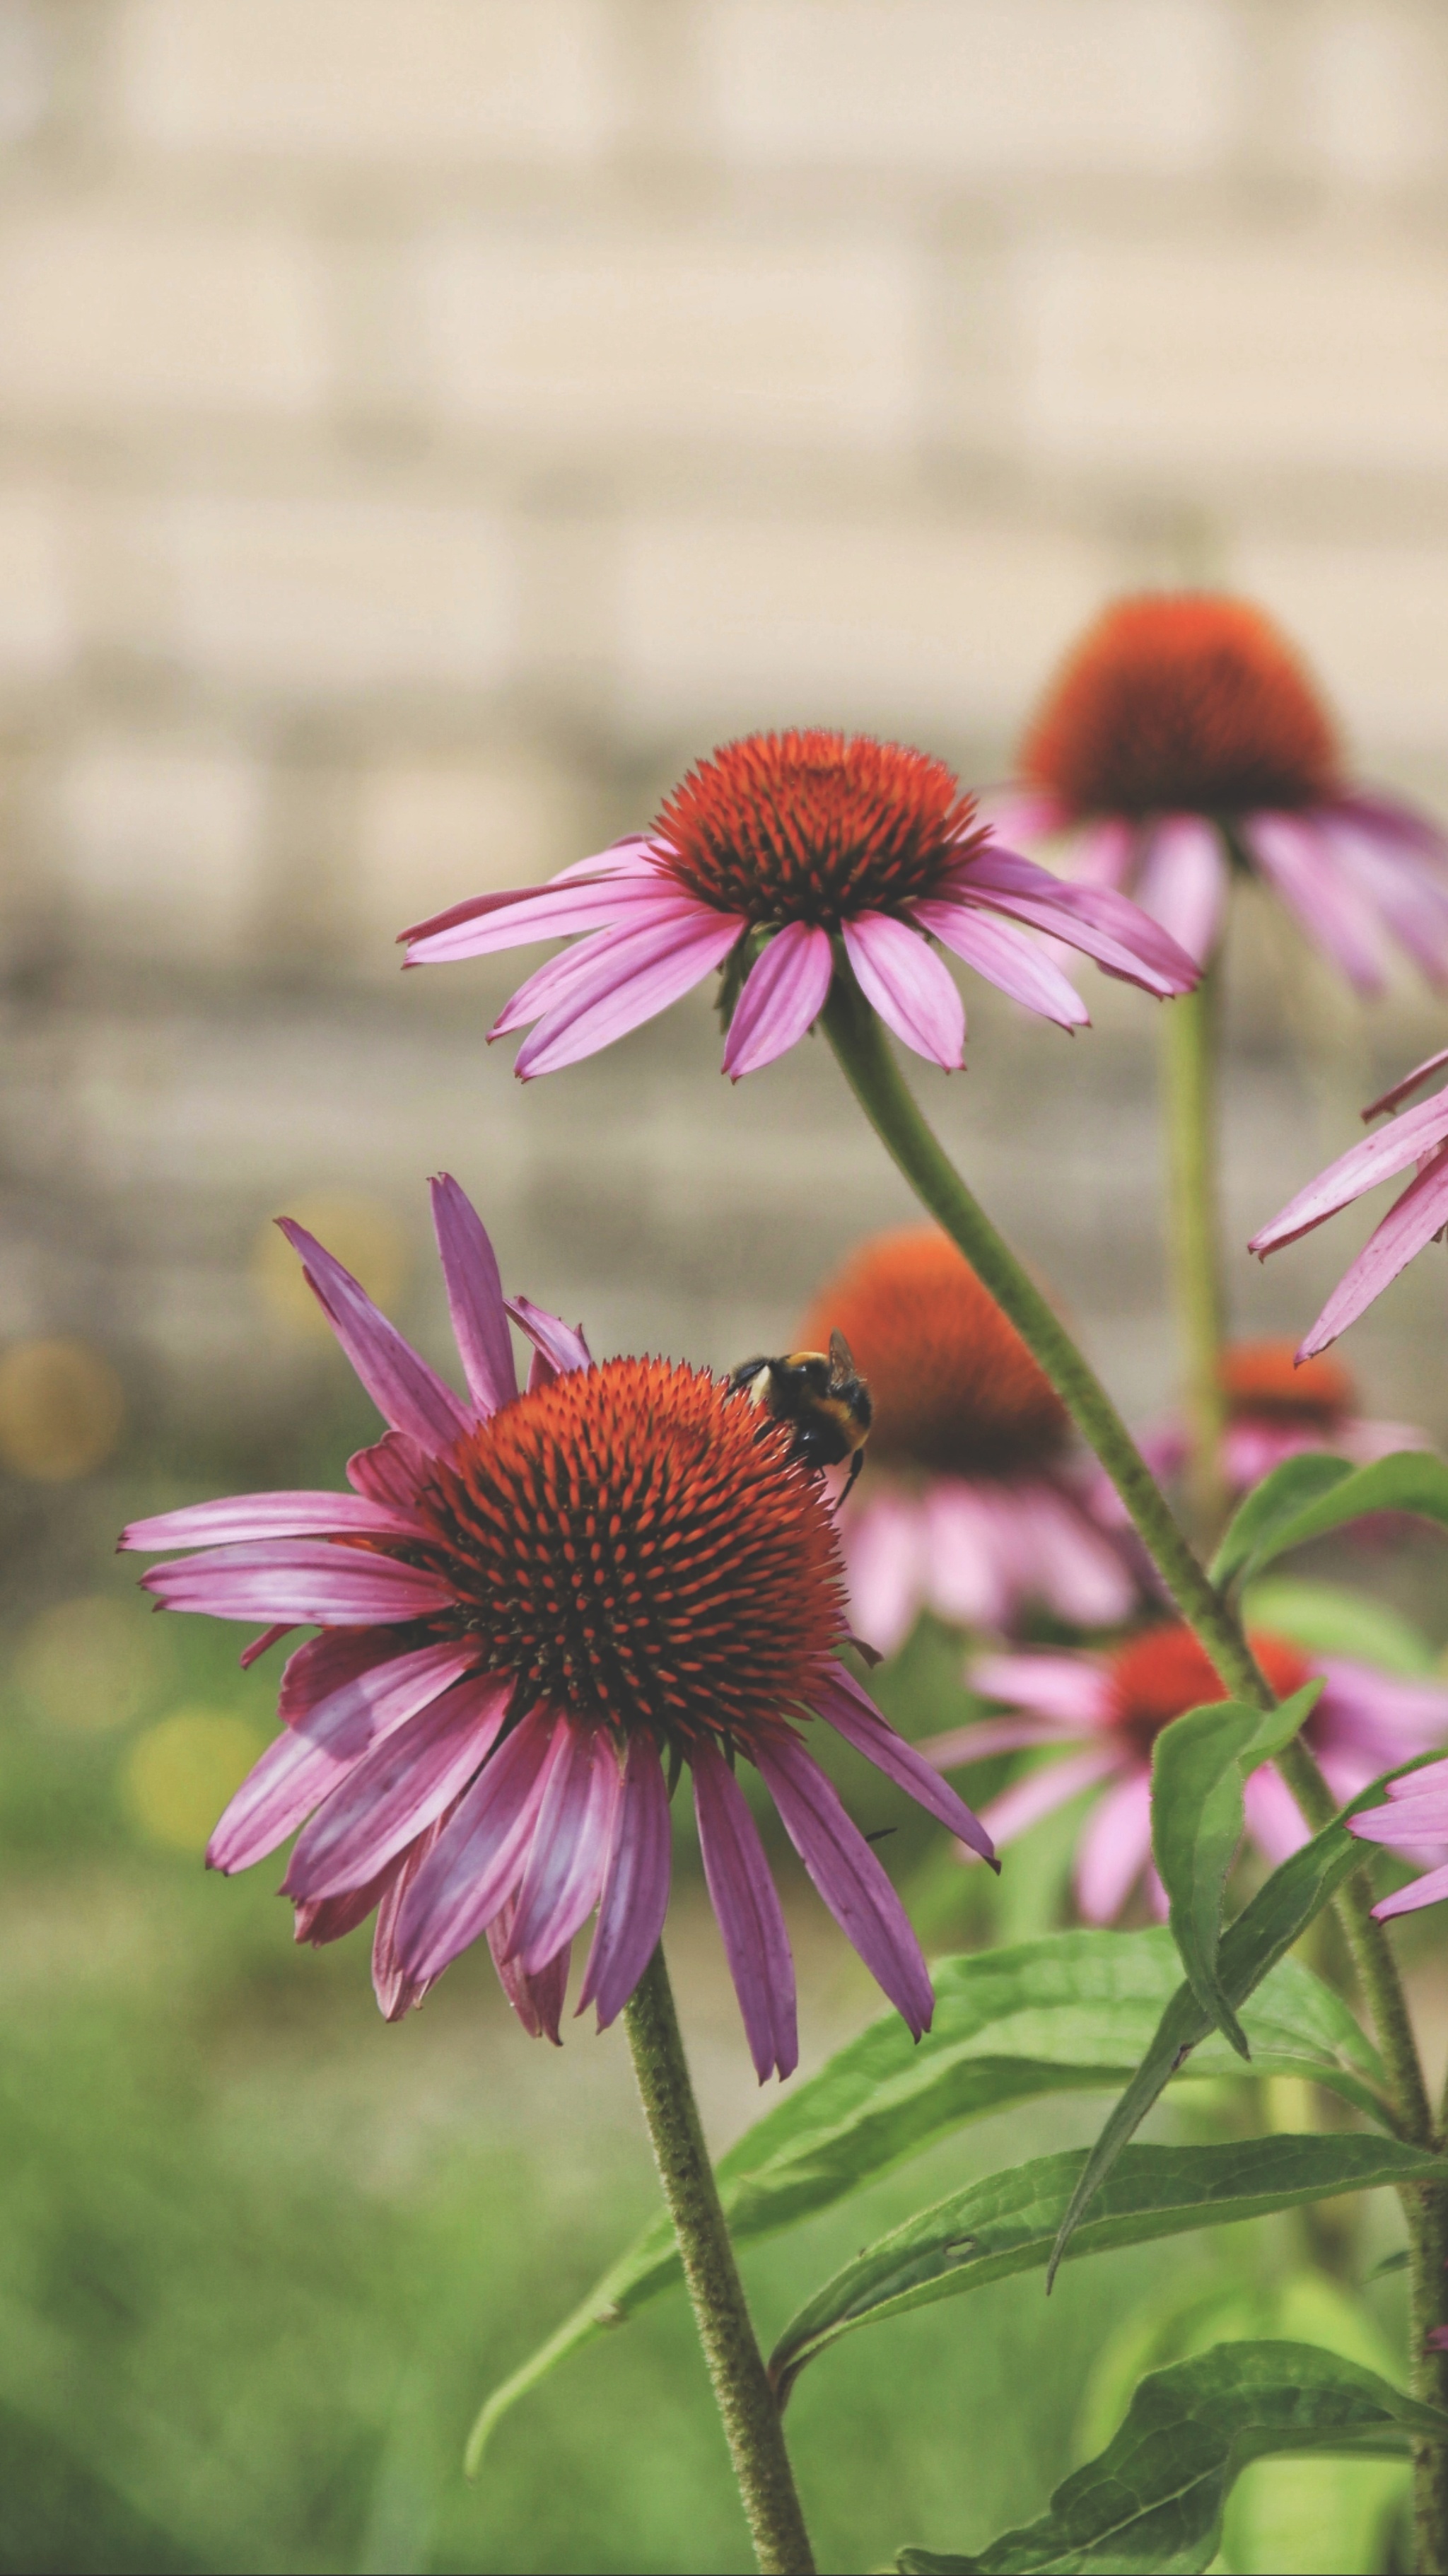
[[[1373,1803],[1378,1798],[1381,1783],[1353,1798],[1345,1814],[1355,1814],[1358,1806]],[[1221,1991],[1232,2007],[1247,2002],[1247,1996],[1260,1986],[1270,1968],[1283,1960],[1293,1940],[1306,1932],[1311,1917],[1327,1904],[1332,1891],[1363,1862],[1363,1844],[1353,1839],[1342,1816],[1324,1824],[1322,1834],[1283,1860],[1278,1870],[1257,1888],[1252,1901],[1242,1906],[1242,1914],[1221,1935],[1221,1947],[1216,1953],[1216,1973]],[[1185,2063],[1193,2048],[1211,2030],[1211,2014],[1198,2004],[1190,1986],[1177,1986],[1141,2066],[1131,2076],[1131,2084],[1121,2094],[1121,2102],[1110,2112],[1100,2138],[1095,2141],[1082,2179],[1072,2195],[1072,2205],[1062,2218],[1062,2233],[1056,2236],[1056,2251],[1046,2267],[1046,2287],[1056,2277],[1056,2267],[1074,2228],[1080,2226],[1090,2200],[1110,2174],[1121,2148],[1136,2136],[1141,2120],[1152,2110],[1152,2102],[1165,2092],[1170,2079]]]

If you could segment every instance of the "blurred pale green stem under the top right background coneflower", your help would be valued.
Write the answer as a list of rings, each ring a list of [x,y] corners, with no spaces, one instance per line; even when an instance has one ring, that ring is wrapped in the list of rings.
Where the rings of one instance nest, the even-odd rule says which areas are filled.
[[[1188,1502],[1198,1535],[1224,1520],[1221,1432],[1221,1226],[1216,1200],[1219,966],[1162,1012],[1162,1108],[1167,1126],[1170,1278],[1183,1352]]]

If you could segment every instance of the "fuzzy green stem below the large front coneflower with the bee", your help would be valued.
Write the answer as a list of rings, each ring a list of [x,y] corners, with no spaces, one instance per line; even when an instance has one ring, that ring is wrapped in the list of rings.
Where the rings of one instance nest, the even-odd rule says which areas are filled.
[[[783,2424],[698,2125],[662,1942],[624,2007],[660,2182],[763,2576],[814,2576]]]

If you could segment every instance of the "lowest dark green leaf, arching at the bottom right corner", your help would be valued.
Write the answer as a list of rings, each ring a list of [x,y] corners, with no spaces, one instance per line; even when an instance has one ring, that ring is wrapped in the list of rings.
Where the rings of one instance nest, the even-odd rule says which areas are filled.
[[[1396,2460],[1415,2437],[1445,2434],[1448,2416],[1317,2344],[1216,2344],[1141,2380],[1116,2439],[1056,2488],[1038,2522],[1002,2532],[982,2558],[902,2550],[894,2563],[902,2576],[1196,2576],[1216,2555],[1221,2506],[1252,2460]]]

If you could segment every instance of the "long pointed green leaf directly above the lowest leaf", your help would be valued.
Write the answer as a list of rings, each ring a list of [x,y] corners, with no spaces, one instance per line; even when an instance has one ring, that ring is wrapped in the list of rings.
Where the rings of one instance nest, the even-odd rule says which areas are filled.
[[[855,2326],[907,2316],[938,2298],[982,2290],[1043,2267],[1080,2182],[1085,2154],[1036,2156],[951,2192],[866,2246],[794,2316],[770,2357],[781,2406],[804,2370]],[[1265,2218],[1335,2192],[1443,2182],[1448,2164],[1396,2138],[1234,2138],[1224,2146],[1129,2146],[1072,2236],[1077,2254],[1108,2254],[1185,2228]]]

